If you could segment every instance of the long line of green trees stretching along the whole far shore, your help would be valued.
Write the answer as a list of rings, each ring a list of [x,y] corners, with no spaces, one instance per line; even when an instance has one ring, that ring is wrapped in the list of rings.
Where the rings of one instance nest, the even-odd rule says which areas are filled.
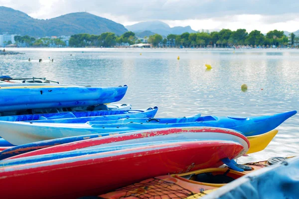
[[[263,46],[271,47],[275,46],[287,46],[287,45],[299,45],[299,37],[296,37],[294,33],[290,35],[291,41],[288,36],[284,34],[284,31],[272,30],[266,35],[262,34],[259,30],[253,30],[250,33],[246,29],[238,29],[232,31],[230,29],[222,29],[219,32],[197,32],[197,33],[182,33],[180,35],[169,34],[163,38],[159,34],[150,35],[144,39],[136,37],[132,31],[125,32],[118,36],[112,32],[105,32],[100,35],[94,34],[75,34],[69,39],[69,46],[71,47],[86,47],[86,46],[128,46],[137,43],[152,44],[152,46],[164,46],[164,47],[230,47],[245,45],[251,47]],[[65,42],[59,38],[40,38],[35,39],[33,37],[15,36],[14,40],[19,46],[65,46]]]

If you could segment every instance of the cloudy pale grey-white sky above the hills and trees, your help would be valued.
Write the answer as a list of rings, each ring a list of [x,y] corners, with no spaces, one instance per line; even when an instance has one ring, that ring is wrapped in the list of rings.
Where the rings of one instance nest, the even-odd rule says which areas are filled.
[[[87,11],[124,25],[161,20],[192,29],[299,29],[299,0],[0,0],[38,19]]]

